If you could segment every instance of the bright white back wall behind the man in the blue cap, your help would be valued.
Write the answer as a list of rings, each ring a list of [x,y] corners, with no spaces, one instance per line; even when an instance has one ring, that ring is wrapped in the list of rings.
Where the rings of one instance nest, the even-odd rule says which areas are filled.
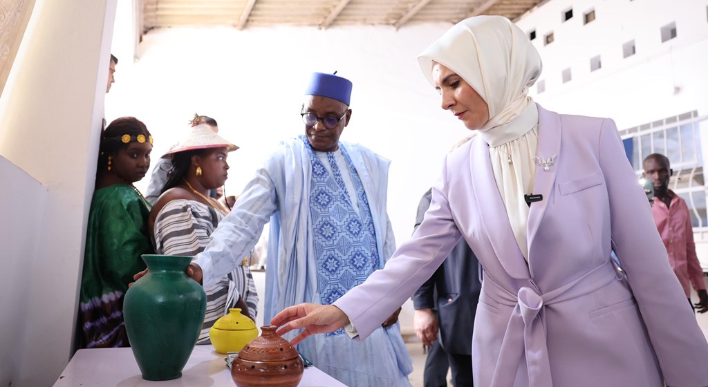
[[[304,132],[299,110],[312,71],[336,70],[354,84],[342,139],[392,160],[389,215],[401,243],[413,231],[418,201],[442,156],[467,134],[440,109],[416,61],[449,27],[152,30],[139,62],[119,62],[107,116],[143,120],[155,139],[154,160],[195,112],[215,117],[219,133],[241,146],[229,156],[227,181],[227,195],[239,194],[278,141]],[[147,180],[136,185],[147,187]]]

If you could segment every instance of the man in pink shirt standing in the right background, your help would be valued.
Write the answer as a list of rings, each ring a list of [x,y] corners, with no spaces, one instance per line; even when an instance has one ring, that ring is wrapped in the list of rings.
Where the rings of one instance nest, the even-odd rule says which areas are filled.
[[[644,158],[644,178],[653,180],[651,209],[654,222],[666,246],[668,260],[689,304],[692,284],[700,300],[691,306],[698,308],[699,313],[705,313],[708,311],[708,291],[693,243],[691,217],[685,200],[668,189],[668,180],[672,174],[668,158],[663,154],[650,154]]]

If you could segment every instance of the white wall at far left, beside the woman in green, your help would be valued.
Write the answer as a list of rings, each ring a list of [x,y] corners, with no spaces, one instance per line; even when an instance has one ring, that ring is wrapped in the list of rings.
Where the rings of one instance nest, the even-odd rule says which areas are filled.
[[[0,97],[2,386],[50,386],[72,354],[115,1],[37,0]]]

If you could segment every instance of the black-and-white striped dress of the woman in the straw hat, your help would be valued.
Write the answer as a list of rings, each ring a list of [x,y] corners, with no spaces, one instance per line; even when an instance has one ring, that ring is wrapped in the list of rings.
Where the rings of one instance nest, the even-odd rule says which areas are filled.
[[[210,241],[212,232],[224,218],[213,207],[194,200],[173,200],[163,207],[155,219],[155,251],[164,255],[193,257]],[[209,328],[236,305],[239,295],[256,318],[258,294],[248,265],[239,265],[217,284],[205,287],[207,312],[197,344],[210,344]]]

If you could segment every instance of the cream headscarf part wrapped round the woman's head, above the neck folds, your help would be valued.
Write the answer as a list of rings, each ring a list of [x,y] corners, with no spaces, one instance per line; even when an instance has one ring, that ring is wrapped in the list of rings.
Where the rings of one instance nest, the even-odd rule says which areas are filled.
[[[526,34],[502,16],[465,19],[418,56],[423,74],[435,86],[433,61],[455,71],[489,105],[489,121],[480,132],[512,122],[533,103],[527,91],[542,69]]]

